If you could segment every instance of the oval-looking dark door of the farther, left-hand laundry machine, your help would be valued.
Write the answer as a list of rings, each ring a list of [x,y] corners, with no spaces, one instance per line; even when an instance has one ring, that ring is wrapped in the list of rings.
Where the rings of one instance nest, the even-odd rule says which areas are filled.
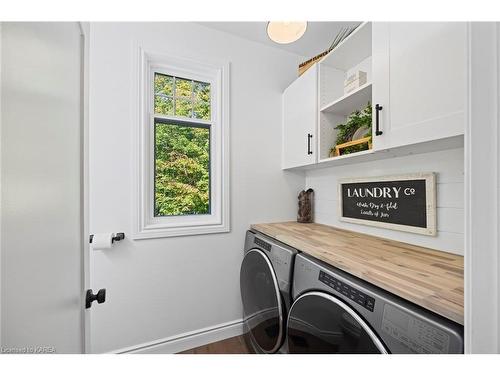
[[[263,251],[252,249],[245,255],[240,289],[249,333],[262,351],[275,352],[283,338],[283,306],[278,280]]]

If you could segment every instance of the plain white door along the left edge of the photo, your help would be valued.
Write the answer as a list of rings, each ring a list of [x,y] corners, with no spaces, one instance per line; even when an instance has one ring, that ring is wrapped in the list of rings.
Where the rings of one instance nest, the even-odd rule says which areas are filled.
[[[79,27],[4,23],[1,44],[2,347],[79,353]]]

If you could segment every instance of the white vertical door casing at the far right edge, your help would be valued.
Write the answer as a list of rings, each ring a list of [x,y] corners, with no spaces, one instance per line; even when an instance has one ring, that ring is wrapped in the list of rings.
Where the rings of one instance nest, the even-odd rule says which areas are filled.
[[[470,24],[465,131],[465,352],[500,353],[500,27]]]

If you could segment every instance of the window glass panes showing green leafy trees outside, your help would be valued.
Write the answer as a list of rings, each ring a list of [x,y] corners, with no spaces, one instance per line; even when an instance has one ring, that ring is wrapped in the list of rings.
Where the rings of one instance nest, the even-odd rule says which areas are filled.
[[[210,83],[154,73],[154,216],[210,214],[210,113]]]

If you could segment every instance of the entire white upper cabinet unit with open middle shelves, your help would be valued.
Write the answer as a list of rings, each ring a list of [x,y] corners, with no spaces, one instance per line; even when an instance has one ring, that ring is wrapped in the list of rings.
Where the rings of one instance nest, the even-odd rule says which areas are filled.
[[[283,168],[463,147],[468,25],[360,24],[284,92]],[[346,79],[361,72],[366,82],[345,88]],[[359,149],[346,152],[352,139],[342,137],[340,125],[369,103],[372,138],[361,135],[354,140]]]

